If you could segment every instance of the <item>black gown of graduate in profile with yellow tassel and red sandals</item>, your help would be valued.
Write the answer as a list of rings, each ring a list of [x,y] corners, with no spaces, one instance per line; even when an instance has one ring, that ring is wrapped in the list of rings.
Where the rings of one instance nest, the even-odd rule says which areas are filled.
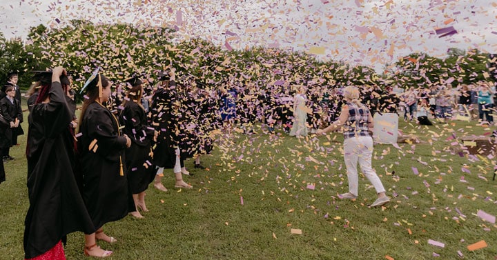
[[[114,115],[97,102],[86,108],[79,133],[83,199],[98,229],[135,211],[124,166],[126,138],[119,135],[119,123]]]

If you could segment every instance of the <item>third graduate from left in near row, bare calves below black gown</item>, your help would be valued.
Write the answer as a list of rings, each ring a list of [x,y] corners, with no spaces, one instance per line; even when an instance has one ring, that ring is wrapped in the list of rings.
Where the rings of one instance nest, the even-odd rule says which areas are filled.
[[[142,106],[142,81],[133,77],[126,81],[128,88],[121,104],[119,123],[124,126],[122,132],[131,139],[131,147],[126,149],[126,168],[128,183],[133,194],[135,205],[147,212],[145,190],[155,177],[155,166],[152,165],[151,144],[157,138],[157,131],[148,126],[145,108]],[[136,218],[143,218],[137,211],[131,212]]]

